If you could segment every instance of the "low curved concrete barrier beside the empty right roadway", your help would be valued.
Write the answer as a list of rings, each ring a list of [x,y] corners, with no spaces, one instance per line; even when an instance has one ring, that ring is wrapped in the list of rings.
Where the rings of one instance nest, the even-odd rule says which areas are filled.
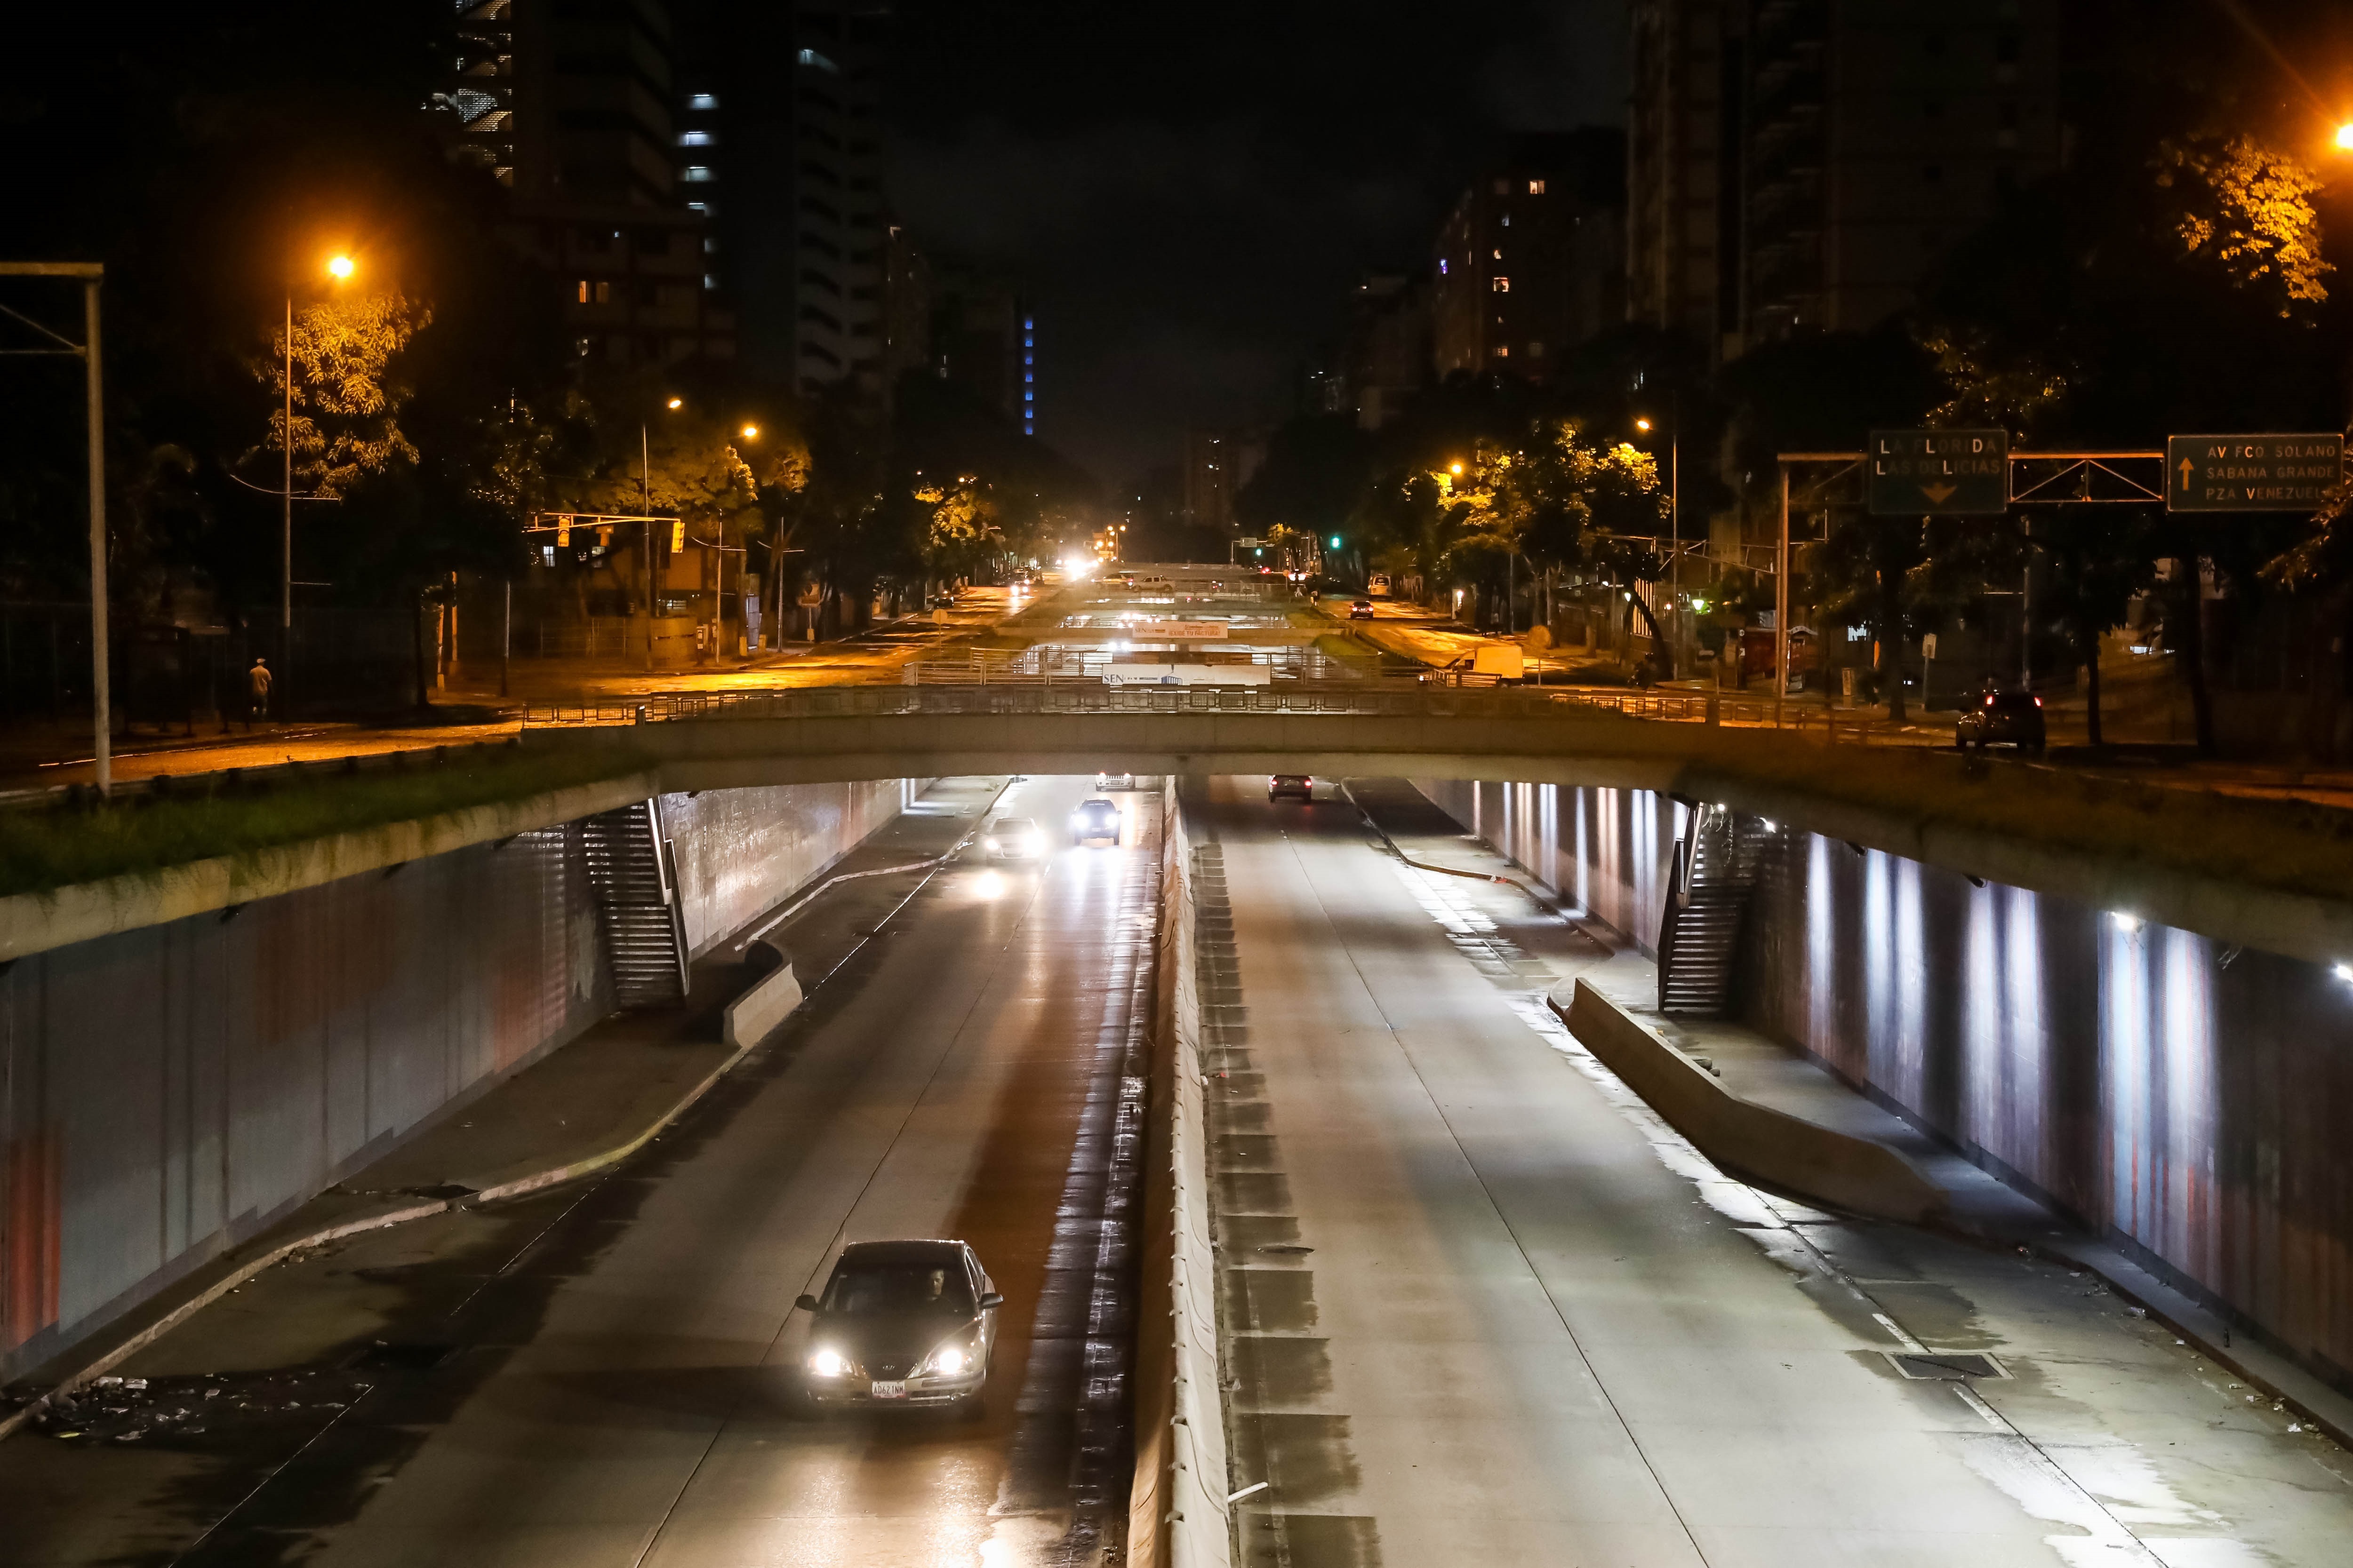
[[[1880,1220],[1925,1225],[1944,1213],[1944,1190],[1894,1150],[1739,1098],[1588,983],[1577,983],[1569,1006],[1558,994],[1551,1006],[1586,1051],[1727,1171]]]

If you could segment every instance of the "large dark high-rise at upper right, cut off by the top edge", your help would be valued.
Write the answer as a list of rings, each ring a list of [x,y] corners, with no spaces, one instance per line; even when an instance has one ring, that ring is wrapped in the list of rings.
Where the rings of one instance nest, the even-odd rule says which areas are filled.
[[[2057,5],[1638,0],[1628,313],[1725,360],[1866,329],[2059,158]]]

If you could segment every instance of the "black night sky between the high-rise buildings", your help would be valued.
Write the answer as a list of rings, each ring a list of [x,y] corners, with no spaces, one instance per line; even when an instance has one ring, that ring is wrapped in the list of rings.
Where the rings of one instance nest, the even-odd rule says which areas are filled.
[[[1624,122],[1624,0],[899,0],[892,202],[1038,315],[1038,433],[1108,484],[1278,418],[1511,132]]]

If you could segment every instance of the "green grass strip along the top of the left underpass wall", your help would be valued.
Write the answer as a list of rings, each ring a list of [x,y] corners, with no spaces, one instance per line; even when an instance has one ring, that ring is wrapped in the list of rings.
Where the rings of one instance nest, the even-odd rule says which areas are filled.
[[[198,795],[125,795],[111,804],[0,811],[0,896],[78,882],[162,875],[216,856],[261,856],[287,844],[414,823],[471,806],[621,778],[647,766],[633,743],[534,750],[466,748],[449,762],[409,752],[402,766],[369,759],[355,773],[256,776]]]

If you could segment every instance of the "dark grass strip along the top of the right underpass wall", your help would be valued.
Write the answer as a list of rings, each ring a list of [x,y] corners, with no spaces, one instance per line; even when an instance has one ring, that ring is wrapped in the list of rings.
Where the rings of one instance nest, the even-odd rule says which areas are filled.
[[[2353,811],[2315,802],[1972,762],[1927,748],[1814,745],[1737,731],[1708,736],[1689,757],[1697,795],[1706,795],[1706,776],[1715,773],[2120,865],[2327,900],[2344,900],[2353,889]]]

